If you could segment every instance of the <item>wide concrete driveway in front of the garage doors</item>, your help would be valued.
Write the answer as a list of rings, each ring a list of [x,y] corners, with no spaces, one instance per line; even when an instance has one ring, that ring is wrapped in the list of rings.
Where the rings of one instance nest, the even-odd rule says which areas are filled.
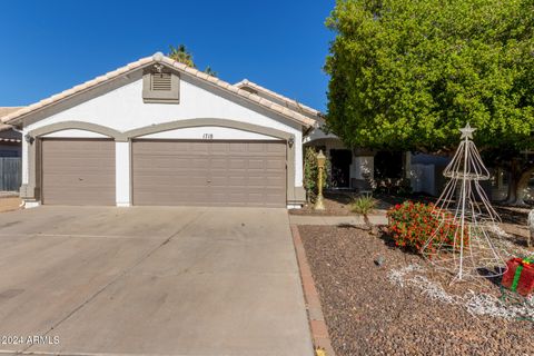
[[[312,355],[287,211],[1,214],[0,337],[3,353]]]

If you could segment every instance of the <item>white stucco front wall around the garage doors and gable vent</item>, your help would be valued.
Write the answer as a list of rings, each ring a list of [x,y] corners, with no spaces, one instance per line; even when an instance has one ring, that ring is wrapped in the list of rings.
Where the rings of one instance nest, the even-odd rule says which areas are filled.
[[[295,187],[303,187],[303,148],[301,126],[276,113],[265,113],[263,110],[255,110],[246,105],[240,105],[216,92],[201,88],[194,82],[180,80],[179,103],[145,103],[142,100],[142,79],[135,80],[105,95],[95,97],[88,101],[68,108],[63,111],[50,115],[39,121],[23,127],[23,134],[46,128],[50,125],[78,121],[99,125],[119,132],[127,132],[134,129],[141,129],[166,122],[176,122],[191,119],[233,120],[254,126],[266,127],[284,131],[295,138],[293,149],[294,157],[288,161],[294,162]],[[236,128],[204,126],[189,127],[152,132],[140,136],[142,138],[160,139],[202,139],[208,134],[211,139],[279,139],[258,132],[250,132]],[[63,129],[44,135],[43,137],[65,138],[103,138],[102,134],[96,134],[85,129]],[[129,167],[129,147],[117,141],[117,179],[121,179],[121,187],[117,185],[117,204],[127,204],[123,185],[127,179],[125,171]],[[29,182],[29,150],[28,144],[22,145],[22,184]],[[125,166],[126,165],[126,166]],[[119,181],[117,181],[119,182]],[[120,191],[119,191],[120,189]],[[123,199],[122,199],[123,198]]]

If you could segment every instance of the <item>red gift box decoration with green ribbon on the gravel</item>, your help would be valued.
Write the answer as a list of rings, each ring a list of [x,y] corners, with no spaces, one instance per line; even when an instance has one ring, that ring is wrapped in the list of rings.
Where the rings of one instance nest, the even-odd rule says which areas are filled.
[[[526,297],[534,291],[534,260],[512,258],[506,263],[507,270],[502,285]]]

